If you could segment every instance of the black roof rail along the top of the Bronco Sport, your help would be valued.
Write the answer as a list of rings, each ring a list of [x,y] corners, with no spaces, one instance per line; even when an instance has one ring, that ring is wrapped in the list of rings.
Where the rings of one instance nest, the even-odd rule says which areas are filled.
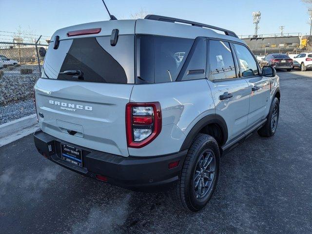
[[[172,23],[179,22],[179,23],[191,24],[192,26],[196,26],[196,27],[210,28],[210,29],[215,29],[215,30],[218,30],[218,31],[222,31],[227,36],[238,38],[237,35],[234,32],[230,31],[230,30],[227,30],[227,29],[224,29],[224,28],[215,27],[215,26],[208,25],[208,24],[198,23],[198,22],[194,22],[194,21],[190,21],[190,20],[181,20],[181,19],[176,19],[176,18],[171,18],[171,17],[166,17],[166,16],[157,16],[157,15],[147,15],[144,19],[146,19],[146,20],[166,21],[166,22],[172,22]]]

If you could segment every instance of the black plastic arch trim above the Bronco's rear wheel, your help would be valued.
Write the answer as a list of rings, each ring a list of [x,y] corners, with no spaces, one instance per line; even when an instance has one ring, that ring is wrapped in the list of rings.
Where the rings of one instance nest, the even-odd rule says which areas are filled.
[[[212,124],[212,123],[215,123],[220,127],[220,130],[222,132],[220,147],[222,145],[224,145],[225,142],[228,140],[228,126],[227,126],[225,120],[223,119],[223,117],[221,117],[220,115],[217,115],[217,114],[212,114],[212,115],[208,115],[208,116],[203,117],[193,126],[193,128],[191,129],[191,131],[189,132],[189,134],[185,138],[185,140],[184,140],[184,142],[180,148],[180,151],[189,149],[190,146],[192,145],[195,137],[200,132],[200,130],[203,129],[203,127],[205,127],[206,125]]]

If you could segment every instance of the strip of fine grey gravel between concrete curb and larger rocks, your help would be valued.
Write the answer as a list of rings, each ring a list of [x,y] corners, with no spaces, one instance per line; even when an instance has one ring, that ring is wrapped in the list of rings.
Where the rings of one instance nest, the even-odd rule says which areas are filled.
[[[34,101],[26,100],[7,106],[0,106],[0,124],[35,114]]]

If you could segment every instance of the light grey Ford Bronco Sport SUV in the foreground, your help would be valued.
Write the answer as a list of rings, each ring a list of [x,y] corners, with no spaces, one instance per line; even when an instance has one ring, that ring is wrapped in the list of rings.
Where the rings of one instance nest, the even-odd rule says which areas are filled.
[[[279,99],[275,69],[261,70],[232,31],[156,15],[86,23],[52,37],[35,85],[34,141],[74,172],[169,190],[199,211],[220,157],[254,132],[274,135]]]

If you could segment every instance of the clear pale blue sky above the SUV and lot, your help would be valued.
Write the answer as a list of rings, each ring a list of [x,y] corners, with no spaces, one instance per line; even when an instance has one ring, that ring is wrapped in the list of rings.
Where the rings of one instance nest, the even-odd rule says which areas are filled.
[[[140,9],[253,35],[253,11],[261,12],[258,34],[310,34],[308,5],[302,0],[105,0],[112,15],[128,19]],[[282,2],[282,4],[280,4]],[[9,4],[8,4],[9,3]],[[52,36],[59,28],[109,20],[101,0],[0,0],[0,31]]]

